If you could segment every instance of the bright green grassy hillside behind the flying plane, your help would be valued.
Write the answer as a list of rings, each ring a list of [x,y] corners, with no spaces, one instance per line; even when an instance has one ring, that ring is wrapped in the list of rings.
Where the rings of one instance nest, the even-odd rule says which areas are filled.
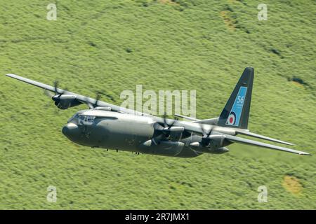
[[[315,1],[0,2],[0,209],[316,209],[315,156],[234,144],[192,159],[78,146],[59,111],[20,76],[121,104],[123,90],[197,90],[219,115],[254,66],[249,128],[315,155]],[[49,106],[47,106],[47,104]],[[57,202],[46,201],[48,186]],[[267,186],[268,203],[257,201]]]

